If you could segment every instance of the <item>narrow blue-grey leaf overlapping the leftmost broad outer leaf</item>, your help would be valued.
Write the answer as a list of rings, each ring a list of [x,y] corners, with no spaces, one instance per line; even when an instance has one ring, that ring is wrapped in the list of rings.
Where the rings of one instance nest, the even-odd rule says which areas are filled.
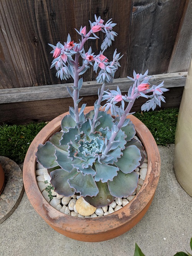
[[[55,150],[56,162],[59,166],[61,166],[63,170],[70,173],[73,170],[73,162],[71,161],[71,158],[68,157],[68,155],[69,153],[67,153],[66,151],[60,149]]]

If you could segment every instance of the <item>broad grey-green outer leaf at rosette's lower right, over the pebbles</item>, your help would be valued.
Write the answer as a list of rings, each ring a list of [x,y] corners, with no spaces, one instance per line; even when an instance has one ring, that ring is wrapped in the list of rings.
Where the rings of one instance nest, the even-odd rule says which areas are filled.
[[[139,175],[135,171],[132,173],[118,172],[118,175],[113,178],[113,181],[108,181],[109,191],[115,197],[127,197],[136,190]]]

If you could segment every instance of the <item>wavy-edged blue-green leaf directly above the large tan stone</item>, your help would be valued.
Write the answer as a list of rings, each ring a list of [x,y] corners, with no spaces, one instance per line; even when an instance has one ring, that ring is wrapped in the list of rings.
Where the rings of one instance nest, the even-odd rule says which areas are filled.
[[[96,182],[91,174],[83,175],[78,172],[72,178],[69,178],[68,183],[71,188],[80,193],[81,196],[96,196],[99,192]]]

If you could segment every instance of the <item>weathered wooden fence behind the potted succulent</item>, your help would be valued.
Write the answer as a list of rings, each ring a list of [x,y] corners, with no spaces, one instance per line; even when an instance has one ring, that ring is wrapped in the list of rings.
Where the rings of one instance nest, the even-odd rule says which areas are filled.
[[[66,81],[56,78],[55,69],[50,70],[48,43],[63,42],[68,33],[78,42],[74,28],[89,26],[94,13],[117,23],[114,31],[118,37],[105,54],[111,59],[116,48],[124,54],[115,76],[120,79],[118,83],[125,84],[124,78],[132,76],[134,69],[139,73],[149,69],[149,74],[155,75],[171,73],[162,75],[165,80],[173,79],[169,86],[173,94],[169,93],[167,101],[169,106],[179,106],[186,78],[183,72],[192,58],[192,0],[0,0],[0,123],[51,120],[68,109],[71,103],[65,90],[61,94],[58,90],[65,88],[59,84]],[[90,40],[95,53],[99,52],[103,33],[99,36],[101,40]],[[179,86],[174,85],[175,75],[182,76],[177,79]],[[84,82],[95,78],[90,69]],[[31,87],[26,89],[28,94],[24,87]],[[42,88],[50,96],[45,96]],[[89,87],[86,91],[85,98],[93,105],[97,93]]]

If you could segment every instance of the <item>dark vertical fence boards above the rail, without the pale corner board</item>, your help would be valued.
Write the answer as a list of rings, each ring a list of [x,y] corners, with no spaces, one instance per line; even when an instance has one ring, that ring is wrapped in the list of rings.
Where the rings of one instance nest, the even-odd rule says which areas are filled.
[[[124,54],[115,78],[146,71],[150,74],[167,71],[186,0],[0,0],[0,88],[69,83],[56,78],[50,70],[52,48],[66,40],[68,33],[75,42],[74,28],[89,27],[94,13],[117,23],[118,37],[110,50]],[[103,40],[90,40],[98,53]],[[88,45],[85,47],[88,50]],[[96,78],[93,69],[84,74],[84,81]]]

